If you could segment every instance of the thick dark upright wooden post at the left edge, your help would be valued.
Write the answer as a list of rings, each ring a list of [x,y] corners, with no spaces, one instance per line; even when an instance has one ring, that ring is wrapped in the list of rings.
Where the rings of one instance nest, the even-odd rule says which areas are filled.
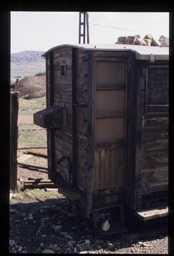
[[[17,117],[19,109],[19,92],[10,93],[10,189],[17,186]]]

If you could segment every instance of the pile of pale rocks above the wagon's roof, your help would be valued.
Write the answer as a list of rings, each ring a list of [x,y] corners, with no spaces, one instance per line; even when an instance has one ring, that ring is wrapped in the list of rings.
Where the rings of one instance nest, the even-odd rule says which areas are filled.
[[[151,34],[146,34],[144,38],[140,37],[140,35],[135,36],[121,36],[118,37],[118,44],[124,45],[144,45],[144,46],[157,46],[157,47],[168,47],[169,46],[169,38],[166,36],[160,36],[159,40],[155,39]]]

